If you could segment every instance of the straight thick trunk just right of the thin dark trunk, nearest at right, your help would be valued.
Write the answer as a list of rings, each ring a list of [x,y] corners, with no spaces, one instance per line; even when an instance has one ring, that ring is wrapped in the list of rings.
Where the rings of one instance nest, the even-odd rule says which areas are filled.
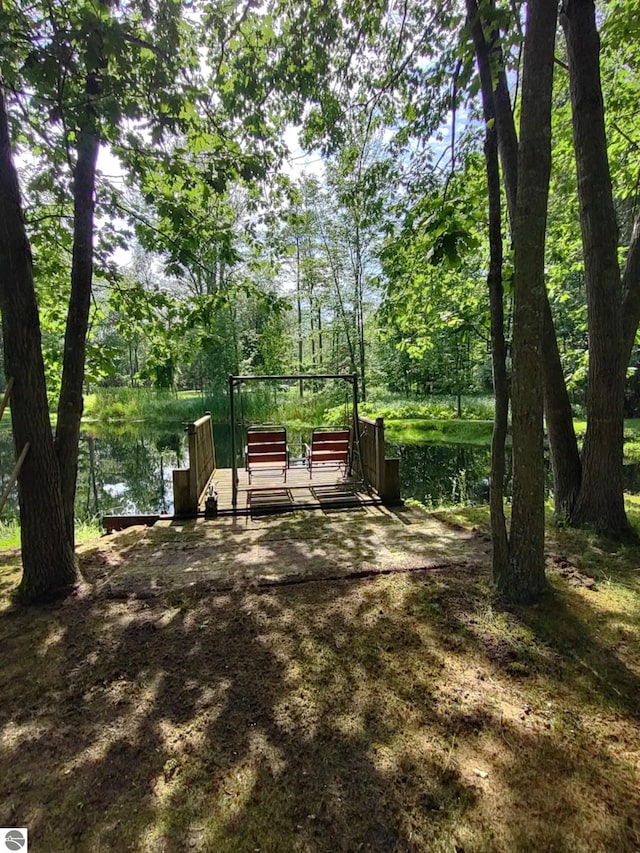
[[[519,602],[539,596],[545,584],[542,332],[555,28],[555,0],[530,0],[514,222],[510,560],[495,579],[506,598]]]

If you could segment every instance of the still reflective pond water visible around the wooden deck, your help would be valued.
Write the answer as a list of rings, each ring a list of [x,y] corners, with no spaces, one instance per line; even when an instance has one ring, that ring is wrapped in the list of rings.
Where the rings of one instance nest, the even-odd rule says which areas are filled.
[[[218,467],[231,467],[228,427],[214,427]],[[299,454],[306,436],[289,432],[292,454]],[[242,439],[236,440],[242,464]],[[401,494],[428,507],[486,503],[489,496],[490,451],[476,445],[388,444],[387,456],[400,459]],[[0,488],[4,489],[14,453],[11,431],[0,429]],[[510,457],[507,459],[507,494],[510,492]],[[186,434],[179,423],[136,423],[119,429],[87,428],[80,444],[76,513],[90,520],[103,515],[171,513],[172,471],[187,465]],[[627,488],[640,488],[637,466],[625,466]],[[14,493],[2,520],[17,517]]]

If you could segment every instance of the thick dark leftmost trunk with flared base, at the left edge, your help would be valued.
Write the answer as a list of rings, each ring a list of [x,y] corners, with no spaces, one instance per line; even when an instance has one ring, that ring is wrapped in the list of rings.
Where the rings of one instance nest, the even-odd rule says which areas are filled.
[[[2,92],[0,198],[0,310],[5,371],[7,378],[15,379],[11,418],[16,452],[21,452],[27,442],[30,446],[18,478],[23,568],[18,597],[24,602],[35,602],[64,594],[76,580],[76,568],[65,532],[31,250]]]

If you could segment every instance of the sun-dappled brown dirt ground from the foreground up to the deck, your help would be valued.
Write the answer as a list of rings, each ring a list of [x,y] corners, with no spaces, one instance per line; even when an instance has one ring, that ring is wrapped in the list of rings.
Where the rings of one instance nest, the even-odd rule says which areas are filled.
[[[637,575],[555,553],[504,608],[486,535],[418,510],[80,556],[76,595],[0,611],[0,825],[31,850],[640,849]]]

